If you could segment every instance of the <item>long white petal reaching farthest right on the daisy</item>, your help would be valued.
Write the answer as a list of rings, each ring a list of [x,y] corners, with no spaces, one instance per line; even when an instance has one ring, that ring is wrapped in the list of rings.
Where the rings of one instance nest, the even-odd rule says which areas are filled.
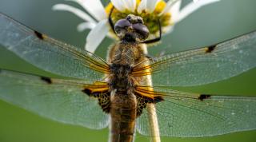
[[[182,19],[186,18],[189,14],[192,14],[195,10],[198,10],[202,6],[219,1],[220,0],[199,0],[198,2],[191,2],[180,11],[178,18],[174,19],[174,22],[182,21]]]

